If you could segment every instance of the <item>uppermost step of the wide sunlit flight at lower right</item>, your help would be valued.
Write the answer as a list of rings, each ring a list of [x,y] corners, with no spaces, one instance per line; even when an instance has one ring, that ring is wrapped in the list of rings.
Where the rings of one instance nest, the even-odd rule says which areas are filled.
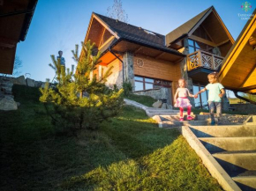
[[[219,125],[206,127],[191,127],[197,137],[237,137],[256,136],[255,125]]]

